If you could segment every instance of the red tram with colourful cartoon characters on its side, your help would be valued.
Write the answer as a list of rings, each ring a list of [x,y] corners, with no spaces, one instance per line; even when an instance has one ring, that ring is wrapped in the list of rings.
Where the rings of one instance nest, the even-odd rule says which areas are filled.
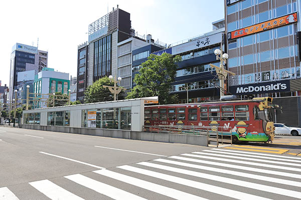
[[[150,105],[144,108],[145,125],[223,126],[234,141],[272,141],[272,98]]]

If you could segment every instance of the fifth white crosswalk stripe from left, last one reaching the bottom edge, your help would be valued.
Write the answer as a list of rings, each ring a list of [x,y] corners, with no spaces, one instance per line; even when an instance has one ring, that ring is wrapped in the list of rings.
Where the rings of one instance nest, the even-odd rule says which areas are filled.
[[[223,187],[219,187],[219,186],[215,186],[215,185],[211,185],[211,184],[206,184],[206,183],[202,183],[202,182],[198,182],[198,181],[194,181],[194,180],[189,180],[189,179],[185,179],[185,178],[181,178],[181,177],[177,177],[177,176],[173,176],[173,175],[168,175],[165,173],[159,173],[156,171],[150,171],[150,170],[146,170],[146,169],[142,169],[142,168],[137,168],[137,167],[133,167],[133,166],[129,166],[129,165],[123,165],[123,166],[117,166],[117,167],[128,170],[128,171],[133,171],[136,173],[141,173],[144,175],[160,178],[163,180],[168,180],[168,181],[175,182],[178,184],[184,184],[184,185],[187,185],[190,187],[202,189],[205,191],[210,191],[213,193],[221,194],[221,195],[236,198],[236,199],[256,199],[256,200],[257,199],[258,200],[259,199],[268,199],[268,198],[264,198],[261,196],[244,193],[241,191],[235,191],[232,189],[227,189],[227,188],[223,188]],[[231,184],[231,182],[229,182],[229,183]],[[186,198],[186,199],[190,199],[190,198]]]

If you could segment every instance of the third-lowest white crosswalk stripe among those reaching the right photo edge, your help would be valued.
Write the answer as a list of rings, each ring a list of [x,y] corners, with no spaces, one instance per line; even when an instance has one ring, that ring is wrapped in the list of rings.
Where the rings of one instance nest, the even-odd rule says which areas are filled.
[[[205,164],[212,164],[212,165],[217,165],[217,166],[225,166],[225,167],[230,167],[230,168],[237,168],[237,169],[240,169],[240,170],[243,168],[243,170],[247,170],[247,171],[255,171],[255,172],[260,171],[261,173],[275,174],[275,175],[279,175],[279,176],[301,178],[300,174],[281,172],[281,171],[273,171],[273,170],[267,170],[267,169],[261,169],[261,168],[259,169],[259,168],[255,168],[255,167],[249,167],[249,166],[240,166],[240,165],[237,165],[237,164],[227,164],[227,163],[222,163],[222,162],[213,162],[213,161],[208,161],[208,160],[200,160],[200,159],[181,157],[181,156],[176,156],[176,155],[170,156],[169,158],[181,159],[181,160],[185,160],[185,161],[205,163]],[[217,159],[217,160],[219,160],[219,159]],[[232,162],[235,162],[235,161],[232,161]]]

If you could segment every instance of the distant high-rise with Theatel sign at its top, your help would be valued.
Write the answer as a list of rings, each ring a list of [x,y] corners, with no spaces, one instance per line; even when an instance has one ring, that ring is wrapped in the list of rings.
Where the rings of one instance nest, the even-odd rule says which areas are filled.
[[[18,72],[35,70],[37,74],[42,68],[47,67],[48,52],[38,50],[38,47],[16,43],[11,54],[10,92],[9,99],[14,98],[17,89]]]

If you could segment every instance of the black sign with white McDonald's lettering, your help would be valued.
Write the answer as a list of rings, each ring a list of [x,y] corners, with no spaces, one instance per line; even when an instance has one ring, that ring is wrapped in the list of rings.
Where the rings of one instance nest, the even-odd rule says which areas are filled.
[[[283,92],[283,91],[290,91],[290,84],[289,84],[289,80],[261,82],[256,84],[230,86],[229,91],[230,93],[236,95]]]

